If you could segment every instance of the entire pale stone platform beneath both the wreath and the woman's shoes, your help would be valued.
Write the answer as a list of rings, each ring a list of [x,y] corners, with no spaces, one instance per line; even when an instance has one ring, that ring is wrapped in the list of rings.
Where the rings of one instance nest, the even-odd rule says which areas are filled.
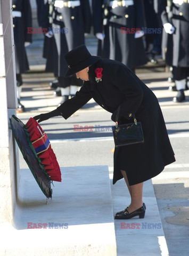
[[[0,255],[169,255],[151,180],[144,182],[145,218],[114,220],[130,195],[124,179],[112,185],[108,166],[64,167],[47,204],[29,169],[19,177],[15,227],[0,225]]]

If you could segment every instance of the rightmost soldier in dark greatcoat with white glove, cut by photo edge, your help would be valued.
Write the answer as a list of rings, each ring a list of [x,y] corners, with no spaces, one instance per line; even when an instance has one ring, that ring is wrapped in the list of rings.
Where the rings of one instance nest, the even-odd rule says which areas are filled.
[[[165,59],[167,65],[172,66],[178,91],[172,100],[182,102],[185,100],[184,90],[189,77],[189,1],[159,0],[158,5],[165,29],[162,42]]]

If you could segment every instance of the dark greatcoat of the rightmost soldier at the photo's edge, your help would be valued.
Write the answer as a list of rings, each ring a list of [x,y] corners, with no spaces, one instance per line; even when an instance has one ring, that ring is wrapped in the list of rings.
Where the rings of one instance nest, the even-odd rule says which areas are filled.
[[[173,17],[168,19],[165,0],[159,0],[159,14],[162,23],[170,22],[175,33],[170,35],[163,31],[162,47],[166,63],[169,66],[189,67],[189,4],[172,4]]]

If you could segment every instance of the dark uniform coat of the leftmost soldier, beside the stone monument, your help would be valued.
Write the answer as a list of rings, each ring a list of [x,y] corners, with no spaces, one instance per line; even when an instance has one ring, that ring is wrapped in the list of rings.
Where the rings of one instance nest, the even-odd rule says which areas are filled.
[[[32,27],[31,6],[29,0],[13,0],[13,11],[20,11],[21,17],[13,18],[15,67],[16,73],[22,74],[29,69],[24,42],[32,41],[32,34],[28,34],[28,27]]]

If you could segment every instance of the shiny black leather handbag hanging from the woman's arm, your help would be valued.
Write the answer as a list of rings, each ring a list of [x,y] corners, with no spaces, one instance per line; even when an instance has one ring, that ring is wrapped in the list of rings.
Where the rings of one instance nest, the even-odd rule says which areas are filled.
[[[116,125],[112,126],[115,147],[144,143],[142,124],[136,121],[135,115],[133,115],[134,123],[118,125],[120,107],[116,115]]]

